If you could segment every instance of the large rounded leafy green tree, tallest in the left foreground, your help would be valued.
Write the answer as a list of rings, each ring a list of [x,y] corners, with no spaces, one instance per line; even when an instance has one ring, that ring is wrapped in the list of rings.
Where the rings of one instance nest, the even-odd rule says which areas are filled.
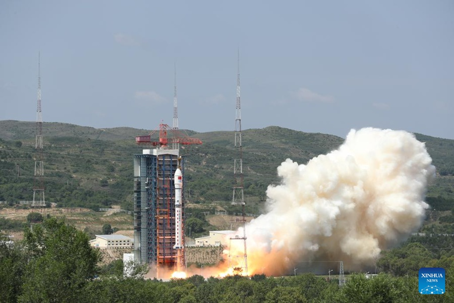
[[[25,268],[20,302],[78,302],[101,260],[87,234],[64,220],[47,219],[26,228],[24,244],[30,261]]]

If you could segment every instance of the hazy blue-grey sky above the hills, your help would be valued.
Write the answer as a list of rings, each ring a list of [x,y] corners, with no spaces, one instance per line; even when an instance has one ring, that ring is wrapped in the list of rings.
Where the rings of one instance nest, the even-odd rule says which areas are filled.
[[[454,1],[0,1],[0,120],[454,139]]]

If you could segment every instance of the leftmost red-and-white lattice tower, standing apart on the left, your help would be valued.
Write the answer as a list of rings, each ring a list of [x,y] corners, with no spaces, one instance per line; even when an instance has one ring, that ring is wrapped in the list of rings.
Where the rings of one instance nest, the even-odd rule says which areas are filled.
[[[45,207],[44,201],[44,166],[42,156],[42,113],[41,113],[41,75],[40,75],[40,55],[38,53],[38,106],[36,109],[36,159],[33,186],[32,207]]]

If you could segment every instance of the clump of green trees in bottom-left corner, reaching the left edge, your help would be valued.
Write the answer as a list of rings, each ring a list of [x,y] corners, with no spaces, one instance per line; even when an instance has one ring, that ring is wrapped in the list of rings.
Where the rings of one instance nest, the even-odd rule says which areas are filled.
[[[0,247],[0,281],[8,284],[0,287],[0,297],[9,302],[76,301],[98,271],[100,252],[88,241],[84,232],[55,218],[26,228],[23,242]]]

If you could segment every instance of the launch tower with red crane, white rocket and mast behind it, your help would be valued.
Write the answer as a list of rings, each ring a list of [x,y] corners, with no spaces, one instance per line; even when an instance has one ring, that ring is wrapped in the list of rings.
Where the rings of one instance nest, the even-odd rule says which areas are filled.
[[[173,127],[159,125],[149,135],[136,137],[148,145],[134,155],[134,261],[180,271],[184,268],[184,159],[180,145],[202,144],[178,130],[177,72],[175,68]]]

